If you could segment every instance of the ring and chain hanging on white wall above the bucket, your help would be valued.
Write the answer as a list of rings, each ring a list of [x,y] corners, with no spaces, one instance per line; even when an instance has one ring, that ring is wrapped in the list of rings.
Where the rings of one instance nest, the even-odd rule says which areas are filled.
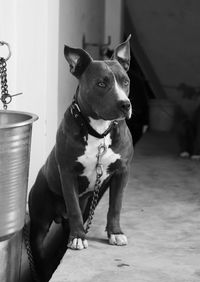
[[[21,95],[22,93],[17,93],[15,95],[10,95],[8,93],[8,81],[7,81],[7,63],[6,61],[11,56],[10,45],[7,42],[0,41],[0,46],[6,45],[8,47],[8,56],[6,58],[0,57],[0,82],[1,82],[1,97],[0,101],[3,103],[4,110],[7,110],[8,104],[11,103],[12,97]]]

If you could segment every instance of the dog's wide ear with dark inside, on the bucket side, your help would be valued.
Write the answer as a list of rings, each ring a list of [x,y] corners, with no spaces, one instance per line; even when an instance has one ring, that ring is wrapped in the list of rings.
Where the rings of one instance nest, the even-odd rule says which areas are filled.
[[[70,72],[80,78],[87,66],[92,61],[92,57],[83,49],[71,48],[67,45],[64,47],[64,55],[69,63]]]

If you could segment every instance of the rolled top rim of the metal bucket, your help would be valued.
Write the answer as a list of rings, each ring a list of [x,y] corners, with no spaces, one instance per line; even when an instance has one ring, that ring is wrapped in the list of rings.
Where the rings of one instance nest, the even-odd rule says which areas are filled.
[[[23,112],[23,111],[10,111],[10,110],[0,110],[0,114],[21,114],[21,115],[27,115],[29,118],[27,118],[24,121],[20,122],[14,122],[11,124],[5,124],[5,125],[0,125],[0,129],[5,129],[5,128],[12,128],[12,127],[20,127],[28,124],[32,124],[34,121],[38,120],[38,116],[36,114],[30,113],[30,112]]]

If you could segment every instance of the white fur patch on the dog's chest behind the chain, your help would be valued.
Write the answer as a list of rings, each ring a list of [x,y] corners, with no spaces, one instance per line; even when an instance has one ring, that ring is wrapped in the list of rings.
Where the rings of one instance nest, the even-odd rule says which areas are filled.
[[[88,136],[88,142],[85,147],[84,154],[79,156],[77,161],[83,165],[83,173],[81,176],[87,177],[89,182],[88,187],[85,192],[93,190],[96,181],[96,166],[98,159],[98,148],[100,145],[105,145],[106,151],[100,157],[100,162],[103,168],[103,175],[101,177],[101,184],[109,176],[108,168],[110,164],[115,163],[121,158],[120,154],[116,154],[109,146],[112,140],[110,134],[108,134],[104,139],[97,139],[91,135]]]

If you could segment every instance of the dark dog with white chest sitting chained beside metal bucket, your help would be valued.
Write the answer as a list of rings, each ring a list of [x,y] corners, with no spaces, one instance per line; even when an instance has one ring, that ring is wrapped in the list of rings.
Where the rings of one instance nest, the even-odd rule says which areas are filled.
[[[28,200],[30,243],[40,273],[45,267],[45,239],[53,222],[61,223],[69,231],[69,248],[88,247],[84,222],[107,188],[108,242],[117,246],[127,244],[120,227],[120,211],[133,156],[132,137],[125,121],[132,114],[127,75],[130,37],[105,61],[93,60],[83,49],[64,47],[78,87]],[[98,197],[94,205],[96,188]]]

